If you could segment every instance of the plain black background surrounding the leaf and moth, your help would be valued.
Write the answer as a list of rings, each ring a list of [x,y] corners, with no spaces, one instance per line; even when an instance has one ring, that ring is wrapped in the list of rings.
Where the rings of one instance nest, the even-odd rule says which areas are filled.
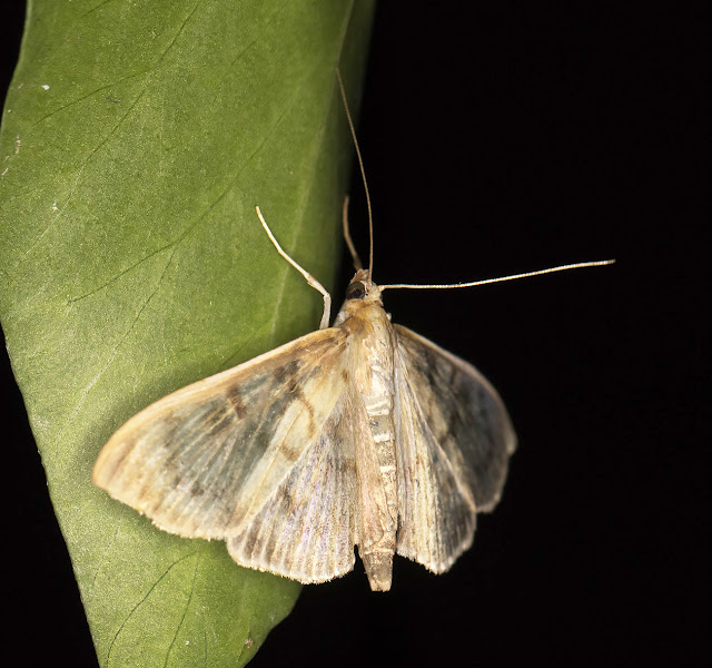
[[[388,595],[360,564],[306,587],[256,667],[710,660],[709,26],[681,4],[540,4],[380,2],[358,129],[374,277],[617,264],[385,294],[505,399],[520,449],[503,501],[445,576],[398,558]],[[7,86],[22,3],[4,7]],[[93,666],[7,358],[2,374],[6,639],[22,665]]]

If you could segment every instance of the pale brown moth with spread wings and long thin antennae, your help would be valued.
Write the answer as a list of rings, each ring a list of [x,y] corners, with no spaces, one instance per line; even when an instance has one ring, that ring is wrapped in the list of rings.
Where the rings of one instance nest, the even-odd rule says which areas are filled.
[[[367,203],[364,269],[345,202],[356,274],[332,326],[329,294],[257,207],[324,296],[319,330],[131,418],[97,459],[98,487],[165,531],[225,540],[238,564],[304,583],[349,572],[356,546],[374,591],[390,588],[394,554],[435,573],[453,566],[500,500],[516,436],[474,366],[390,322],[386,288],[447,286],[373,281]],[[604,263],[505,279],[592,264]]]

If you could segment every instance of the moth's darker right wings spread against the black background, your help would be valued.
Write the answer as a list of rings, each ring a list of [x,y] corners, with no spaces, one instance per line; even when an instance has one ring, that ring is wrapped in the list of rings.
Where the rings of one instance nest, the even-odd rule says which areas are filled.
[[[476,512],[498,501],[516,436],[502,400],[474,366],[394,328],[397,551],[443,572],[472,544]]]

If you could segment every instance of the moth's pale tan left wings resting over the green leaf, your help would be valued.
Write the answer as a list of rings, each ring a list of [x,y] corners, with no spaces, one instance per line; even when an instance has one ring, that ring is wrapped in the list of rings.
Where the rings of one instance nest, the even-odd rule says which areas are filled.
[[[303,563],[307,577],[347,572],[355,542],[347,354],[343,331],[322,330],[169,394],[111,436],[95,483],[166,531],[230,539],[244,566],[300,579],[271,561],[288,563],[289,544],[296,553],[319,537],[334,552],[328,563]]]

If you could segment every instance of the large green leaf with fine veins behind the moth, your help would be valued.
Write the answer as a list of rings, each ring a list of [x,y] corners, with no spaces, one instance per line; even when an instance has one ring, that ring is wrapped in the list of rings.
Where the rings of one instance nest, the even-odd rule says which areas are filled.
[[[151,401],[314,330],[373,2],[29,2],[0,135],[0,317],[101,666],[246,664],[299,591],[91,484]]]

